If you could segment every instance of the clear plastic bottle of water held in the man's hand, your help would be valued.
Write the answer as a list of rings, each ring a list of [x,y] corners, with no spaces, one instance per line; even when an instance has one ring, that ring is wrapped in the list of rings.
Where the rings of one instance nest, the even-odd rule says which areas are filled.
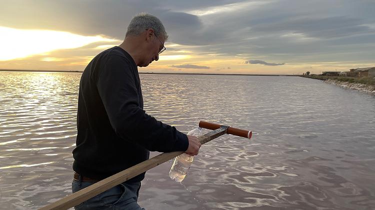
[[[197,127],[187,133],[189,136],[199,136],[201,128]],[[182,153],[181,155],[174,158],[172,167],[169,171],[169,177],[176,182],[182,182],[185,178],[187,171],[189,170],[193,156]]]

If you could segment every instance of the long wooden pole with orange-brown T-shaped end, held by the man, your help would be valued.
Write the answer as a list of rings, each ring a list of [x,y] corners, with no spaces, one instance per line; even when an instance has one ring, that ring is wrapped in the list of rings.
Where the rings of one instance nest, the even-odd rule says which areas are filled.
[[[217,125],[218,124],[208,123],[204,121],[199,122],[199,127],[202,126],[201,128],[207,128],[207,129],[213,130],[207,134],[204,134],[198,137],[200,144],[205,144],[211,141],[212,139],[215,139],[221,135],[224,135],[225,133],[227,133],[227,131],[229,131],[229,129],[231,132],[230,134],[233,134],[233,135],[240,134],[241,136],[243,136],[244,133],[246,133],[246,135],[247,133],[249,133],[250,134],[249,138],[251,138],[251,131],[245,131],[245,130],[240,130],[240,129],[233,130],[234,128],[231,128],[228,126],[218,125],[217,127]],[[78,204],[106,190],[109,190],[113,188],[114,186],[119,185],[143,172],[146,172],[147,170],[152,169],[182,153],[183,152],[170,152],[170,153],[162,153],[160,155],[157,155],[133,167],[123,170],[113,176],[110,176],[104,180],[101,180],[93,185],[90,185],[87,188],[84,188],[69,196],[66,196],[65,198],[62,198],[52,204],[49,204],[48,206],[45,206],[41,208],[40,210],[65,210],[65,209],[69,209],[74,206],[77,206]]]

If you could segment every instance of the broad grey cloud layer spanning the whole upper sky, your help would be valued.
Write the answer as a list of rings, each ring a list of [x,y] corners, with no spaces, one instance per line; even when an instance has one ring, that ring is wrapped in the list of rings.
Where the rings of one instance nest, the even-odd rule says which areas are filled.
[[[1,6],[0,26],[118,40],[133,15],[149,12],[163,22],[168,41],[179,44],[176,51],[194,55],[293,64],[373,63],[375,54],[373,0],[15,0]],[[174,55],[170,48],[166,53]]]

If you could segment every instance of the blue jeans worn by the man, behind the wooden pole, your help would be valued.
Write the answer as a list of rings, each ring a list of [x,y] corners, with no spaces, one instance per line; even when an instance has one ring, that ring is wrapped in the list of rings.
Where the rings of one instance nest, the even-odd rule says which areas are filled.
[[[82,190],[94,182],[80,182],[73,179],[71,191],[73,193]],[[88,199],[87,201],[74,207],[75,210],[144,210],[136,203],[140,182],[121,183],[113,188]]]

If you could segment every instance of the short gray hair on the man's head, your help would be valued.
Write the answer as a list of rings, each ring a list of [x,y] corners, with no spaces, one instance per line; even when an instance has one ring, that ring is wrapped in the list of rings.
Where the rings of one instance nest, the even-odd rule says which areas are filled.
[[[153,32],[156,36],[163,34],[164,40],[168,38],[168,35],[166,34],[165,28],[161,21],[157,17],[144,12],[135,15],[131,19],[129,26],[127,26],[125,37],[128,35],[137,36],[149,28],[153,29]]]

